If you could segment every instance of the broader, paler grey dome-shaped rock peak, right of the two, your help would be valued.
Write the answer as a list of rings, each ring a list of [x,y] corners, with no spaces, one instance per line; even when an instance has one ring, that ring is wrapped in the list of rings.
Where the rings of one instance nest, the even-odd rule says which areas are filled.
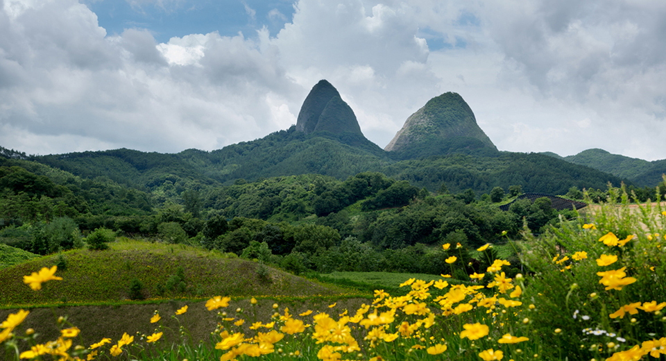
[[[495,144],[477,125],[470,106],[462,96],[453,92],[430,99],[423,108],[407,118],[384,150],[438,149],[444,143],[448,144],[447,149],[453,144],[463,144],[497,151]]]

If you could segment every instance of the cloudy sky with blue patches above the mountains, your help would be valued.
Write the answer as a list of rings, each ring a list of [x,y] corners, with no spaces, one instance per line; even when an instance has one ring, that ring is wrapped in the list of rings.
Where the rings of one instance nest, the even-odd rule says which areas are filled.
[[[666,158],[666,1],[0,0],[0,146],[220,149],[322,78],[382,148],[458,92],[504,151]]]

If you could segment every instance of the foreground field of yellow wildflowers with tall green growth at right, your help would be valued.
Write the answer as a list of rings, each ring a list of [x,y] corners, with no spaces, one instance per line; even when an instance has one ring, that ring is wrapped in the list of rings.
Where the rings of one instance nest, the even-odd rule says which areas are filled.
[[[361,305],[214,296],[137,314],[149,332],[92,344],[58,314],[58,336],[37,343],[40,330],[24,325],[33,311],[17,310],[0,325],[0,342],[14,360],[663,360],[666,210],[657,203],[630,212],[622,199],[509,240],[521,274],[507,273],[519,261],[486,244],[474,250],[486,260],[454,282],[450,275],[470,265],[461,264],[463,246],[443,244],[449,268],[440,277],[410,278],[400,294],[377,289]],[[31,292],[64,282],[57,267],[22,281]],[[194,312],[214,322],[188,323]],[[191,328],[205,328],[205,339]]]

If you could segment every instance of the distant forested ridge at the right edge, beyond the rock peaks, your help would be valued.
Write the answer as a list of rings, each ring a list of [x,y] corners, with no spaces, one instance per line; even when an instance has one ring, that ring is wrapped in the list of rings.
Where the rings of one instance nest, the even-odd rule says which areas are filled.
[[[587,149],[566,157],[558,156],[552,152],[543,154],[577,165],[599,169],[614,176],[629,179],[629,181],[639,186],[654,187],[663,181],[663,174],[666,174],[666,160],[649,162],[639,158],[609,153],[598,148]]]

